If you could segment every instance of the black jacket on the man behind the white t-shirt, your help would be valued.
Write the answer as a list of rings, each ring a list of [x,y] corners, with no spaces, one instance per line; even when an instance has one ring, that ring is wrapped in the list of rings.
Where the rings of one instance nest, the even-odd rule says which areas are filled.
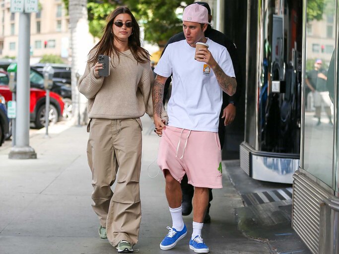
[[[221,108],[221,111],[222,111],[229,103],[233,103],[236,106],[237,103],[239,102],[239,97],[241,95],[242,76],[241,76],[240,66],[239,66],[239,61],[238,61],[237,48],[235,47],[235,44],[226,37],[226,35],[213,29],[210,25],[207,26],[207,29],[205,31],[205,37],[216,42],[217,44],[224,46],[227,49],[231,57],[232,63],[233,63],[235,78],[237,80],[237,90],[233,96],[229,96],[225,92],[222,93],[222,108]],[[164,50],[162,51],[162,54],[164,54],[168,44],[171,44],[173,42],[178,42],[181,40],[185,40],[184,32],[181,32],[181,33],[178,33],[172,36],[168,40]],[[165,87],[169,86],[169,83],[171,82],[171,80],[172,80],[171,77],[167,79]]]

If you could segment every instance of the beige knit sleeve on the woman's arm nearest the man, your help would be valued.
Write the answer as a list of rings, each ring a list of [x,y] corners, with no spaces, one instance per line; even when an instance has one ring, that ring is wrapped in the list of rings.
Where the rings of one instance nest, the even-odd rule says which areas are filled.
[[[154,75],[150,64],[148,65],[149,66],[144,69],[141,76],[140,90],[143,95],[143,101],[145,103],[145,111],[150,118],[153,118],[152,87],[154,84]],[[165,111],[164,107],[162,107],[161,109],[160,118],[165,119],[166,123],[168,122],[167,112]]]

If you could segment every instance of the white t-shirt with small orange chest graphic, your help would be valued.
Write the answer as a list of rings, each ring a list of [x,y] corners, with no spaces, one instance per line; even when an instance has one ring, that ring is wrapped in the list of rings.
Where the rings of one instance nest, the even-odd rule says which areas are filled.
[[[227,49],[207,38],[214,60],[228,76],[235,77]],[[213,70],[194,59],[196,48],[186,40],[171,43],[154,72],[163,77],[173,73],[172,93],[167,105],[168,125],[200,131],[218,131],[222,89]]]

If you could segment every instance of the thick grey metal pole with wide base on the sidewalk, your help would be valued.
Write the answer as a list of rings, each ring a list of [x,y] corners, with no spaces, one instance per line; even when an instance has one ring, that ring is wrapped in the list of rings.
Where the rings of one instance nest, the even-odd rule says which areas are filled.
[[[29,146],[29,44],[30,13],[21,12],[19,16],[18,68],[17,68],[17,108],[16,144],[11,148],[9,159],[36,159],[37,155]]]

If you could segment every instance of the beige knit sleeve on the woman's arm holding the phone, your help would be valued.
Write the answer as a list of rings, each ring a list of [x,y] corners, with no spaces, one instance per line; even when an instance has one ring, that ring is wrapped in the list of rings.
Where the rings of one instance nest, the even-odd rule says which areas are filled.
[[[89,59],[91,56],[89,57]],[[101,77],[94,72],[94,65],[87,62],[85,73],[79,79],[77,84],[78,90],[87,99],[95,97],[104,82],[104,77]]]

